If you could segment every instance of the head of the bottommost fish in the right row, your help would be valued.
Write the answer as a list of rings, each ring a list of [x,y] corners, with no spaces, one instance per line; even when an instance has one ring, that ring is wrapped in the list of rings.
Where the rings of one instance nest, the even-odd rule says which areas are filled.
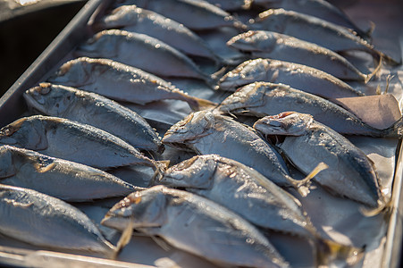
[[[166,222],[166,188],[162,185],[131,193],[113,205],[101,224],[117,230],[160,227]]]

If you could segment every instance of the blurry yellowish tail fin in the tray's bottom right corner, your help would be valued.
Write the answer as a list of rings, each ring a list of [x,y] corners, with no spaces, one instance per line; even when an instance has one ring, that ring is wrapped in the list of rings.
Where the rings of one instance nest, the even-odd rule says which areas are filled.
[[[348,266],[357,264],[364,256],[364,247],[342,245],[329,239],[316,241],[318,267],[327,266],[336,260],[343,260]]]

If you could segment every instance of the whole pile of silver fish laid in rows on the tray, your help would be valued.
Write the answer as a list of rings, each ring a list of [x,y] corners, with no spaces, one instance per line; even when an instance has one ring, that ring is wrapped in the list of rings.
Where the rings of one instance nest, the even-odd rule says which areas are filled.
[[[0,233],[110,257],[124,245],[74,205],[114,197],[104,229],[215,265],[298,266],[271,232],[307,241],[313,265],[357,262],[365,248],[324,237],[300,200],[318,187],[366,216],[388,208],[374,163],[343,135],[401,138],[402,119],[376,129],[333,102],[398,64],[370,32],[322,0],[116,0],[91,26],[0,130]],[[141,168],[144,183],[120,176]]]

